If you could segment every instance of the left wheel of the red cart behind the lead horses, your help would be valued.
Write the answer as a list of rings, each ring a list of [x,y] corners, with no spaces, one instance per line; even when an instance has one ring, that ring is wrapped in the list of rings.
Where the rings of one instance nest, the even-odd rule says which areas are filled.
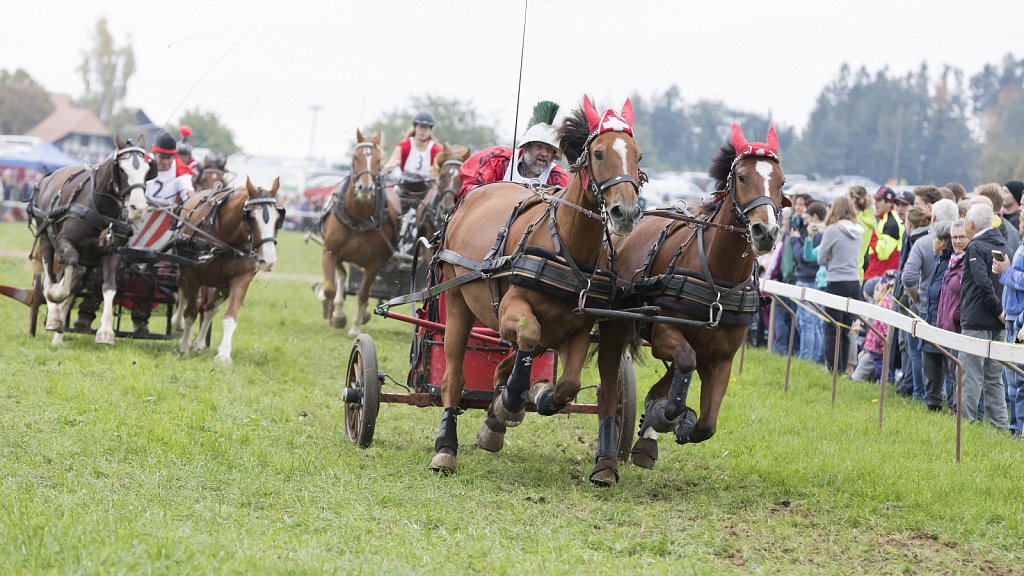
[[[359,448],[374,441],[374,425],[380,408],[381,378],[377,372],[377,346],[368,334],[359,334],[352,342],[345,372],[345,431],[348,440]]]

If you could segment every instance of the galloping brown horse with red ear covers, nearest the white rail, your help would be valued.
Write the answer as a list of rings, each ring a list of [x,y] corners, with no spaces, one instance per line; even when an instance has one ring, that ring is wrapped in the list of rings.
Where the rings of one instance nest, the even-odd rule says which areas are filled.
[[[774,248],[784,203],[774,127],[761,143],[748,142],[733,125],[732,141],[712,161],[710,174],[723,192],[696,218],[680,221],[657,217],[655,211],[614,243],[620,278],[633,283],[639,304],[660,306],[665,316],[680,319],[648,325],[651,355],[670,368],[644,402],[632,456],[642,467],[652,467],[657,459],[656,433],[674,430],[679,444],[703,442],[715,434],[732,359],[758,311],[754,258]],[[623,321],[601,327],[602,382],[615,381],[633,328]],[[699,418],[686,406],[694,370],[700,375]],[[617,396],[606,387],[598,398],[601,418],[618,406]]]

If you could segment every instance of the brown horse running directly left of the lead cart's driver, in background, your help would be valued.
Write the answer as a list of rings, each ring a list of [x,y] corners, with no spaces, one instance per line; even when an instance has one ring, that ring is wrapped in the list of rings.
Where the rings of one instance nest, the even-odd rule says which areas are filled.
[[[331,326],[344,328],[345,262],[360,266],[362,284],[356,294],[359,306],[348,333],[356,335],[370,321],[370,286],[394,253],[398,230],[398,197],[381,184],[381,133],[366,137],[355,131],[352,173],[331,193],[321,225],[324,237],[324,284],[317,296],[328,303]]]

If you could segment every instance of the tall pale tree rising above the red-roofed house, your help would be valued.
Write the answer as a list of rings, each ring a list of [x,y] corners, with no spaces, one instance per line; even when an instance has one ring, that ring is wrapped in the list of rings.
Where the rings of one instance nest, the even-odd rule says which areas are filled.
[[[135,52],[131,37],[126,44],[115,46],[106,27],[106,18],[96,20],[92,45],[82,51],[78,72],[85,84],[82,106],[88,108],[108,126],[124,108],[128,81],[135,74]]]

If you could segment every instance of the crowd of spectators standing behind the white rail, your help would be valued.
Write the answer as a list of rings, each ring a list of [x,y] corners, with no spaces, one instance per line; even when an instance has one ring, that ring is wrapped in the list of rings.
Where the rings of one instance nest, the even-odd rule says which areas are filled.
[[[923,186],[873,194],[854,186],[825,206],[809,195],[792,197],[782,213],[780,242],[762,257],[767,278],[860,298],[933,326],[986,340],[1024,341],[1024,246],[1020,204],[1024,182]],[[776,306],[774,352],[794,352],[854,380],[882,376],[887,326],[861,325],[852,315],[805,302]],[[840,324],[837,329],[833,320]],[[936,412],[956,410],[955,364],[931,342],[898,331],[889,344],[888,377],[898,394]],[[956,354],[956,353],[952,353]],[[838,359],[838,360],[837,360]],[[987,420],[1020,437],[1024,378],[996,361],[959,353],[964,416]]]

